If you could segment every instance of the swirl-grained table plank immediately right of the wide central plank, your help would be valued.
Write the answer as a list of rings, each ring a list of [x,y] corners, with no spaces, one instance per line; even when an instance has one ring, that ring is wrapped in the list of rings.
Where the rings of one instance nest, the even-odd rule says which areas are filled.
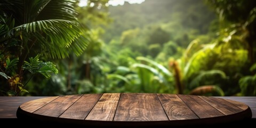
[[[176,94],[157,94],[170,120],[197,119],[197,115]]]

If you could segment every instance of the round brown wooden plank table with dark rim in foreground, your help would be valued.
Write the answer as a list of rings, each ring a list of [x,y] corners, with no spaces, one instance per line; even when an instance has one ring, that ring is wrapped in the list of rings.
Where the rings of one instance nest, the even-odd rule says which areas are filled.
[[[86,126],[191,126],[243,121],[252,117],[242,102],[196,95],[103,93],[31,100],[17,117]]]

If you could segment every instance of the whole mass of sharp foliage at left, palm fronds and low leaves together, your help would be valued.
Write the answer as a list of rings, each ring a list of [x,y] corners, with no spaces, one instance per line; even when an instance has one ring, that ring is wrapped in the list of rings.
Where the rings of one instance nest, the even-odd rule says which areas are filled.
[[[87,39],[82,35],[77,21],[75,4],[76,1],[71,0],[0,2],[0,68],[9,71],[1,70],[11,77],[6,81],[2,74],[1,90],[12,90],[8,93],[12,95],[18,95],[19,90],[24,91],[23,87],[27,83],[22,83],[28,82],[31,77],[23,69],[32,76],[41,73],[50,77],[51,73],[58,73],[52,62],[38,61],[36,54],[40,53],[43,59],[55,59],[66,58],[70,53],[81,55],[84,52]],[[12,61],[9,62],[9,58]],[[19,87],[8,86],[10,81],[19,84]]]

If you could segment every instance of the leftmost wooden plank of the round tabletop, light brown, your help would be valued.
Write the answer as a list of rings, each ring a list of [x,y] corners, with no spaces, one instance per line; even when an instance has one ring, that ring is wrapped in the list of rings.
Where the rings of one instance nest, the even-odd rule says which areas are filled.
[[[45,106],[47,103],[57,99],[58,97],[49,97],[49,98],[42,98],[37,100],[31,100],[26,103],[23,103],[20,108],[22,110],[28,111],[29,113],[34,113],[37,109]]]

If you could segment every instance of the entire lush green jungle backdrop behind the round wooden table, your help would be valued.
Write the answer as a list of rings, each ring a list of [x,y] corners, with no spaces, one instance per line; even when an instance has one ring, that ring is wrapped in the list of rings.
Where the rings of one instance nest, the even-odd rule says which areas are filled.
[[[0,37],[0,95],[256,95],[255,0],[1,0]]]

